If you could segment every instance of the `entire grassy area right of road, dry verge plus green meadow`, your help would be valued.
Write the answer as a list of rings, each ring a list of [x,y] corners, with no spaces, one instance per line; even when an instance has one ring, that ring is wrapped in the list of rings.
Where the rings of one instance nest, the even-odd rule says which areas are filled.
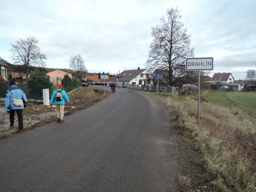
[[[153,95],[172,113],[175,128],[191,138],[190,147],[203,154],[206,178],[200,183],[201,189],[256,192],[256,92],[202,92],[200,125],[196,95]],[[205,99],[208,102],[203,102]],[[186,182],[193,180],[192,175],[182,176],[180,182],[192,191]]]

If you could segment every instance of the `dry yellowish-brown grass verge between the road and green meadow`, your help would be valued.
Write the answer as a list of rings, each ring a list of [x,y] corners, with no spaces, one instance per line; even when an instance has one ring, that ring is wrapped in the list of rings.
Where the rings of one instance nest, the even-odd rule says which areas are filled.
[[[195,96],[161,98],[191,132],[192,147],[204,154],[213,191],[256,191],[256,128],[242,112],[202,102],[198,126]]]

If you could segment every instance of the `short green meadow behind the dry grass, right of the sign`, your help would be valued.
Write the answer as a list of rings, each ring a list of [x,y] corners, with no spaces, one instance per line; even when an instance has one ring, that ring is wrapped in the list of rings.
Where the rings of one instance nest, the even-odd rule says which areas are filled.
[[[209,91],[207,93],[209,103],[215,103],[221,107],[240,109],[244,115],[256,125],[256,92],[224,92]]]

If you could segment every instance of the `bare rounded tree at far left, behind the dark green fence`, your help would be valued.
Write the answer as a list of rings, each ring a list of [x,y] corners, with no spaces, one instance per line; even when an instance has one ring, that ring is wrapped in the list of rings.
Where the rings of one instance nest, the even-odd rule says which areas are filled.
[[[46,60],[45,54],[41,54],[40,48],[37,46],[38,40],[35,36],[26,39],[17,39],[12,45],[11,58],[14,64],[20,64],[26,68],[26,82],[28,82],[29,66],[33,66]]]

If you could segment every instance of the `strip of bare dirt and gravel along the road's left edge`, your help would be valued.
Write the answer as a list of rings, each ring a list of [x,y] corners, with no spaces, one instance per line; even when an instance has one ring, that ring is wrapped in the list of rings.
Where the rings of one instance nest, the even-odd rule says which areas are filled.
[[[65,105],[64,118],[77,110],[87,108],[94,103],[103,100],[110,96],[110,92],[105,92],[100,89],[90,89],[81,87],[78,91],[68,95],[70,105]],[[27,107],[23,110],[24,130],[33,129],[56,120],[56,106],[46,106],[42,102],[28,102]],[[18,131],[18,117],[15,115],[14,127],[10,127],[9,113],[5,110],[4,102],[0,103],[0,139],[6,138]]]

